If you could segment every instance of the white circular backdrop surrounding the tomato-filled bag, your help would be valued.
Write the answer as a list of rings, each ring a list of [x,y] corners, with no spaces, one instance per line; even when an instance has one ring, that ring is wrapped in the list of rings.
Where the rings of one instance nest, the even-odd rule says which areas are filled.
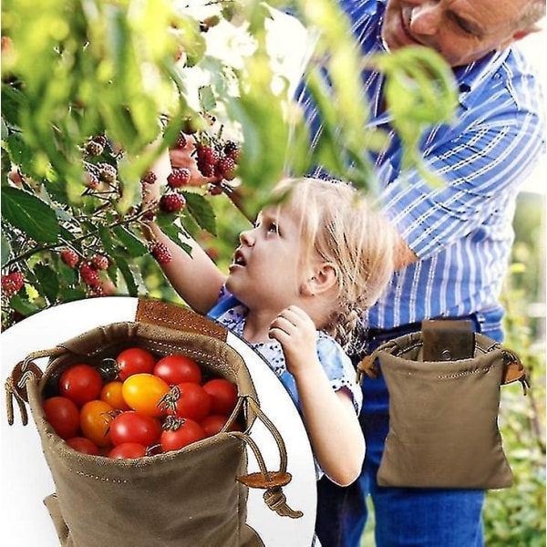
[[[33,351],[52,348],[99,325],[133,321],[137,302],[136,298],[113,296],[60,304],[10,327],[0,337],[2,380],[10,375],[18,361]],[[284,438],[287,470],[293,475],[291,483],[284,487],[284,493],[291,508],[304,511],[300,519],[280,517],[264,504],[263,490],[251,489],[247,522],[259,533],[266,547],[306,547],[311,545],[314,536],[316,484],[314,459],[304,425],[283,384],[263,359],[237,336],[229,334],[227,342],[249,367],[261,408]],[[46,366],[45,360],[38,364]],[[16,405],[12,427],[7,425],[5,411],[0,420],[0,544],[5,547],[57,547],[57,534],[43,504],[55,487],[29,408],[28,411],[26,428],[21,425]],[[263,449],[266,463],[271,462],[271,469],[277,469],[278,451],[262,424],[253,425],[253,439]],[[249,471],[254,470],[258,470],[258,466],[250,453]]]

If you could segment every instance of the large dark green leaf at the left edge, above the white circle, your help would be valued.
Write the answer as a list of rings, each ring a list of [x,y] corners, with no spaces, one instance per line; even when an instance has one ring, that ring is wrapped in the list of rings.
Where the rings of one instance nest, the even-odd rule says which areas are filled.
[[[57,242],[59,225],[55,211],[26,191],[2,190],[2,216],[36,242]]]

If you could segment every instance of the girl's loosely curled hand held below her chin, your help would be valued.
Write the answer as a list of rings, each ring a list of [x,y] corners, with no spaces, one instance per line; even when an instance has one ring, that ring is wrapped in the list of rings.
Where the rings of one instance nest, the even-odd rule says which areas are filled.
[[[317,356],[317,330],[311,317],[296,305],[285,308],[270,325],[269,335],[284,352],[287,370],[296,376]]]

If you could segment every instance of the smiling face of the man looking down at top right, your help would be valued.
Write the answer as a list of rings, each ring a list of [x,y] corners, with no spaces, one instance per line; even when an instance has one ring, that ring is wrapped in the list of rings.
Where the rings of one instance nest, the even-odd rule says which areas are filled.
[[[451,67],[467,65],[513,41],[525,0],[387,0],[382,38],[390,50],[435,49]]]

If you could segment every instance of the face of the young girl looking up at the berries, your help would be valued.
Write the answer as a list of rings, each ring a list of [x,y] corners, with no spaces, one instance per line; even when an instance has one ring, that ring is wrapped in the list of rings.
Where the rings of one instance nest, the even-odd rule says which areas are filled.
[[[266,208],[241,233],[226,287],[250,310],[277,314],[300,296],[302,253],[299,215],[287,206]]]

